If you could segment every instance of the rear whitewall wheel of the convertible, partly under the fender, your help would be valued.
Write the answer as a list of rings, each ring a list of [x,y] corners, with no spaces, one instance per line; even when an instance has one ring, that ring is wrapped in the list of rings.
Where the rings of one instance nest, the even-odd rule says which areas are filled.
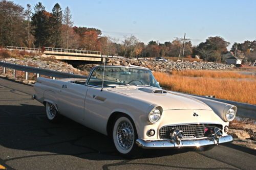
[[[61,115],[58,113],[56,107],[49,102],[46,102],[46,117],[50,122],[59,122]]]

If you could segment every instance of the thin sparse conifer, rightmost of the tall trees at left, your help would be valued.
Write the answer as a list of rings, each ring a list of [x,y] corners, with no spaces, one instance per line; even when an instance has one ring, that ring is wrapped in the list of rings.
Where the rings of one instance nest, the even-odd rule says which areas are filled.
[[[69,9],[69,7],[66,7],[64,10],[64,14],[63,14],[63,25],[64,27],[64,31],[66,33],[66,37],[65,37],[65,42],[66,42],[66,48],[68,48],[69,46],[69,41],[70,41],[70,28],[73,27],[73,21],[72,21],[72,15],[71,15],[71,11]]]

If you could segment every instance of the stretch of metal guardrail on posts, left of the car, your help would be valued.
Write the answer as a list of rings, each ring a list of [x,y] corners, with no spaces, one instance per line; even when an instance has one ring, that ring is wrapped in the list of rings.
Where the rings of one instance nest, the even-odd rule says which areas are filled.
[[[34,74],[37,74],[37,77],[40,75],[49,76],[54,78],[79,78],[79,79],[87,79],[86,76],[81,75],[74,75],[67,72],[60,72],[50,69],[43,69],[43,68],[36,68],[36,67],[30,67],[30,66],[24,66],[24,65],[17,65],[17,64],[11,64],[6,62],[0,61],[0,66],[4,67],[3,72],[6,73],[6,68],[13,69],[13,77],[16,77],[16,70],[25,71],[25,77],[26,80],[28,80],[28,72],[32,72]]]

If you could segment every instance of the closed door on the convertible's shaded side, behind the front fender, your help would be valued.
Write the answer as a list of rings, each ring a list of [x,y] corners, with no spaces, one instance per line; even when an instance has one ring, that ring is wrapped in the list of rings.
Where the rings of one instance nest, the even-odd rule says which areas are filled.
[[[88,88],[86,85],[63,82],[58,96],[59,112],[76,122],[82,123]]]

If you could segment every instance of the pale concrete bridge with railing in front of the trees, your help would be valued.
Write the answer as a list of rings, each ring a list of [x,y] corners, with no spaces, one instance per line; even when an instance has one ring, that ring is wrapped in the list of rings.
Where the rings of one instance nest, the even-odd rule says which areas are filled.
[[[65,49],[65,48],[52,48],[44,47],[40,48],[27,48],[18,46],[7,46],[7,50],[13,51],[27,51],[33,53],[42,53],[43,57],[54,56],[57,60],[76,60],[76,61],[95,61],[100,62],[102,56],[100,52],[97,51],[85,51],[85,50],[75,50],[75,49]]]

